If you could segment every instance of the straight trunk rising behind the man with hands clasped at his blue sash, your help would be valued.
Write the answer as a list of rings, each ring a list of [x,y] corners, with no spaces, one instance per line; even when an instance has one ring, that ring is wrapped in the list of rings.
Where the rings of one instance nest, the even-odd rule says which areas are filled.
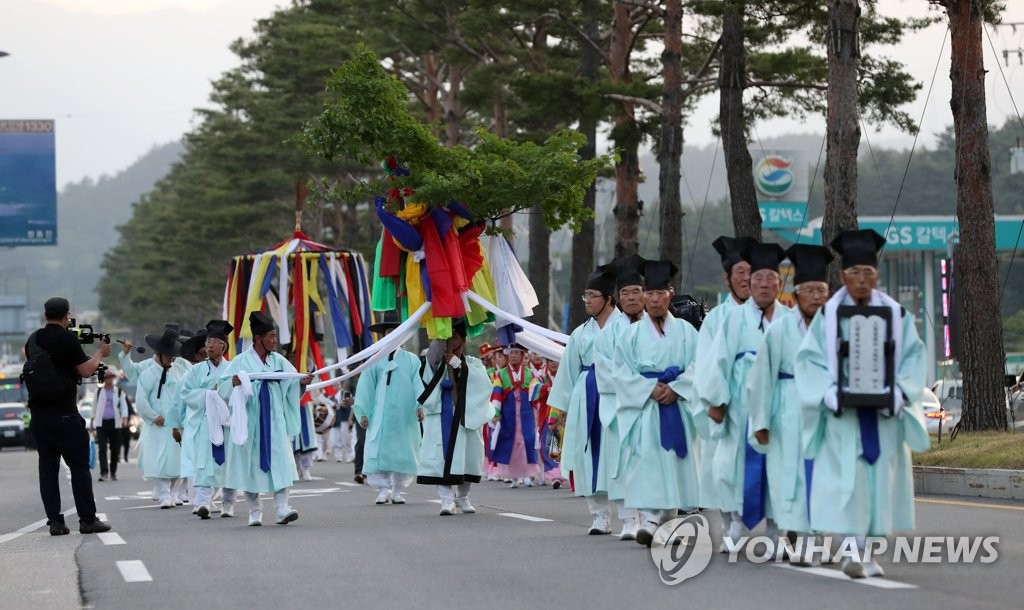
[[[683,124],[680,108],[682,91],[683,2],[668,0],[665,10],[665,51],[662,66],[665,91],[662,94],[662,137],[657,150],[658,210],[660,212],[658,256],[683,269],[683,204],[679,197],[682,176]],[[683,275],[676,275],[676,290],[682,290]]]

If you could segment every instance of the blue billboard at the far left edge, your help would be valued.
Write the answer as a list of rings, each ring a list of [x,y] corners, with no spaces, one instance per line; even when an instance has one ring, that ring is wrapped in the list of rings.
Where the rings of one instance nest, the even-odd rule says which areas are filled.
[[[53,121],[0,120],[0,246],[55,246]]]

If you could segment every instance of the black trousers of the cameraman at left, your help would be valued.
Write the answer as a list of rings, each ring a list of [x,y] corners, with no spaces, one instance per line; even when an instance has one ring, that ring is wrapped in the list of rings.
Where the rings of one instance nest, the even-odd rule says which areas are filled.
[[[35,408],[32,411],[32,436],[39,451],[39,493],[43,497],[47,525],[63,523],[60,512],[60,459],[71,469],[71,489],[79,521],[96,520],[96,500],[92,497],[89,472],[89,433],[78,412],[58,408]]]

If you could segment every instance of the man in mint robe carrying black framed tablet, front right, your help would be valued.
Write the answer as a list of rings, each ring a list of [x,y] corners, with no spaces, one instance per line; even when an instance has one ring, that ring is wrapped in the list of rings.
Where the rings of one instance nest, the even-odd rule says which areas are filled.
[[[874,290],[878,251],[884,245],[885,238],[869,229],[844,231],[833,241],[843,261],[843,288],[811,322],[796,364],[804,451],[814,460],[811,529],[854,536],[859,552],[865,536],[913,529],[910,452],[931,444],[921,408],[927,362],[913,316]],[[892,412],[858,408],[840,397],[839,341],[849,337],[849,321],[839,320],[841,305],[887,307],[892,312]],[[849,368],[842,364],[849,380]],[[878,563],[860,559],[845,558],[843,571],[852,578],[884,575]]]

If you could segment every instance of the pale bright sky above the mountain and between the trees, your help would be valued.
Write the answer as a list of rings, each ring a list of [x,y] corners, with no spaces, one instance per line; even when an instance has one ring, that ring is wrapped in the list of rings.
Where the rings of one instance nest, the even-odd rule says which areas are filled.
[[[196,125],[194,108],[210,105],[210,83],[237,64],[230,42],[251,36],[256,19],[284,4],[286,0],[0,0],[0,50],[9,53],[0,57],[0,119],[56,121],[58,187],[114,175]],[[988,119],[999,126],[1024,112],[1024,66],[1016,55],[1024,48],[1024,0],[1007,4],[1004,19],[1022,25],[986,30],[983,37]],[[926,0],[880,0],[880,7],[896,16],[929,10]],[[904,106],[922,126],[919,146],[934,144],[934,135],[952,122],[945,31],[944,25],[933,26],[898,49],[898,57],[924,83],[919,98]],[[1014,52],[1009,67],[1004,49]],[[714,141],[709,125],[717,105],[717,98],[700,103],[686,127],[688,145]],[[769,137],[823,129],[823,118],[775,120],[758,124],[754,133]],[[909,147],[913,141],[892,127],[868,130],[865,136],[872,146]]]

